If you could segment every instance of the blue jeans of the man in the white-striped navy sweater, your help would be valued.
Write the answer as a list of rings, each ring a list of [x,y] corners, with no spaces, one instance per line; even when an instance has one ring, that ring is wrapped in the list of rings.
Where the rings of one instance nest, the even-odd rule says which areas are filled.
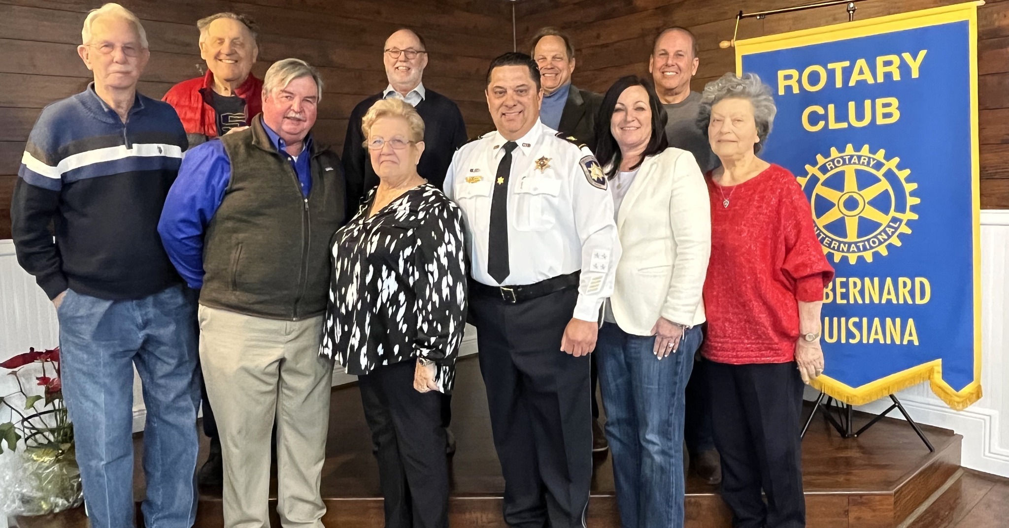
[[[91,526],[134,525],[135,366],[147,410],[144,524],[190,528],[200,405],[195,292],[173,286],[141,299],[106,300],[67,290],[57,314],[63,392]]]

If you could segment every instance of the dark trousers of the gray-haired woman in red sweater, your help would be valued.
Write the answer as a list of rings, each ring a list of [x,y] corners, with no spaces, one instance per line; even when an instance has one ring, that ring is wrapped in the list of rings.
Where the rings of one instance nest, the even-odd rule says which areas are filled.
[[[804,527],[803,384],[795,363],[705,367],[721,498],[733,510],[734,528]]]

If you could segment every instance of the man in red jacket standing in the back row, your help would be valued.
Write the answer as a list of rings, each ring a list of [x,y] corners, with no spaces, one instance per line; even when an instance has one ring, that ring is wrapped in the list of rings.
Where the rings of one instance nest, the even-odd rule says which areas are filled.
[[[262,81],[251,74],[259,53],[255,22],[246,15],[217,13],[196,25],[207,75],[179,83],[162,99],[179,114],[190,148],[247,126],[262,107]]]

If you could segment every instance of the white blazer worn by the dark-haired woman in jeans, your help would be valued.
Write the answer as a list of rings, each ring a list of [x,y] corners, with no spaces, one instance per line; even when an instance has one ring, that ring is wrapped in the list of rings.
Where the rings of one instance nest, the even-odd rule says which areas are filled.
[[[660,316],[688,326],[704,322],[711,210],[690,152],[670,147],[645,158],[616,213],[616,230],[623,254],[609,300],[620,327],[651,336]]]

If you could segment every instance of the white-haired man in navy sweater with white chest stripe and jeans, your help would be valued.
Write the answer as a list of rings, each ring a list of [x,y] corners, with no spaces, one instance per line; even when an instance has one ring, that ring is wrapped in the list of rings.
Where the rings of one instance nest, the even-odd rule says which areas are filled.
[[[118,4],[91,11],[78,53],[84,92],[47,106],[25,146],[11,205],[18,262],[60,319],[63,393],[88,516],[133,526],[133,368],[147,426],[144,524],[196,521],[196,303],[157,235],[186,132],[166,103],[136,92],[150,53]],[[49,225],[55,232],[55,241]]]

